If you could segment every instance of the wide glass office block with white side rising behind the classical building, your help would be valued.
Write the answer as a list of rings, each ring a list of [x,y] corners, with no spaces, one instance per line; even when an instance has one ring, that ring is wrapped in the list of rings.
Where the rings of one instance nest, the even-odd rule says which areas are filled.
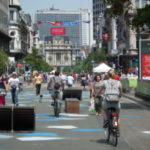
[[[63,33],[60,36],[69,37],[73,45],[78,47],[82,45],[92,45],[92,26],[90,21],[91,12],[85,9],[77,11],[62,11],[58,9],[38,10],[35,14],[35,22],[38,24],[40,40],[46,36],[52,36],[52,30],[62,28]],[[85,22],[83,22],[85,21]],[[52,24],[52,22],[55,24]],[[60,25],[59,23],[64,24]]]

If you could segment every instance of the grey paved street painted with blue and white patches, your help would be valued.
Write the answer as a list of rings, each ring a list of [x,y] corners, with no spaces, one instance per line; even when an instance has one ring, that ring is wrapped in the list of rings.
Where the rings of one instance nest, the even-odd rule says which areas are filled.
[[[43,100],[35,96],[34,88],[28,87],[20,93],[22,105],[33,105],[36,110],[35,132],[0,133],[0,150],[149,150],[150,109],[122,98],[121,136],[118,147],[105,142],[102,116],[88,112],[89,93],[83,91],[80,114],[64,113],[64,105],[59,118],[53,116],[49,93],[43,89]],[[7,105],[11,104],[7,96]]]

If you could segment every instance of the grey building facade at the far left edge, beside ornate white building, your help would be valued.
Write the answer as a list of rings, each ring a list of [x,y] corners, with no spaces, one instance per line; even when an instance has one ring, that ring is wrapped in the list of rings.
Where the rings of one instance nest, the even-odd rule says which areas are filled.
[[[8,13],[9,0],[0,0],[0,48],[9,52],[9,33],[8,33]]]

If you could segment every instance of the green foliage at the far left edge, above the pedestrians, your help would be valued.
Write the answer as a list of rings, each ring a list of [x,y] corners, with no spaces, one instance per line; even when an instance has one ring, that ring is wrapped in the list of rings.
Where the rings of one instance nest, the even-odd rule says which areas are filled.
[[[2,48],[0,48],[0,73],[5,72],[6,65],[8,63],[8,56]]]

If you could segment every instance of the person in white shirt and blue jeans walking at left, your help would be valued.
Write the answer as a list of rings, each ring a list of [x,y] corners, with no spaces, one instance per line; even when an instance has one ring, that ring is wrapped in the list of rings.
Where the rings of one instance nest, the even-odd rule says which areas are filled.
[[[8,80],[10,86],[12,102],[14,105],[18,106],[18,89],[19,89],[19,78],[17,74],[13,72],[12,77]]]

